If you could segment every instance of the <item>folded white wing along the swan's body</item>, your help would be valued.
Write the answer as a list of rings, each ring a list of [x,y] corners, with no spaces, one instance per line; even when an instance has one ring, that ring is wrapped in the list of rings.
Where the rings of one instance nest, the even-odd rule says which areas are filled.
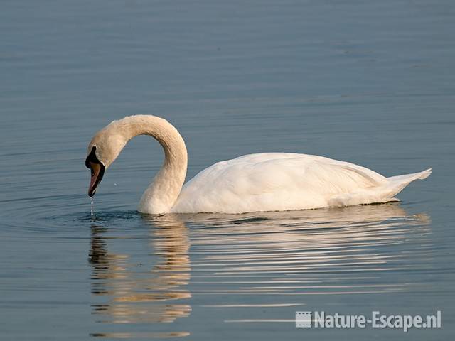
[[[328,206],[333,197],[377,188],[387,178],[353,163],[297,153],[221,161],[183,186],[173,212],[241,213]]]

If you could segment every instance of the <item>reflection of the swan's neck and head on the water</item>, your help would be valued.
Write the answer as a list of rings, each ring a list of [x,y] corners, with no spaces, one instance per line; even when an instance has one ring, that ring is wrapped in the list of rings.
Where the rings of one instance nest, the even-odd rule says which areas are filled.
[[[146,222],[153,227],[150,229],[150,247],[154,256],[159,257],[159,261],[151,269],[148,268],[149,263],[137,264],[127,254],[108,251],[108,239],[105,237],[107,229],[92,225],[92,293],[109,297],[107,303],[92,305],[93,314],[99,316],[97,322],[171,323],[191,312],[190,305],[174,303],[191,297],[185,288],[190,280],[188,229],[172,215],[149,218]],[[120,240],[126,241],[127,239]],[[92,334],[119,338],[186,335],[188,332]]]

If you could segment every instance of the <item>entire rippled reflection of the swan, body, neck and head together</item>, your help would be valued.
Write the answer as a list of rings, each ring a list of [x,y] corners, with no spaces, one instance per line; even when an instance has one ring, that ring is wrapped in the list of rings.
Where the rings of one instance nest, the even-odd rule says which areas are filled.
[[[109,232],[93,226],[90,253],[92,293],[109,299],[93,306],[97,322],[153,323],[148,327],[154,332],[135,332],[134,337],[189,335],[175,330],[179,318],[190,314],[190,304],[195,307],[193,296],[198,298],[196,307],[211,317],[218,316],[218,308],[239,315],[245,309],[294,307],[314,295],[412,291],[425,285],[414,284],[412,270],[421,274],[431,268],[429,217],[407,215],[396,203],[143,219],[153,227],[149,229],[153,253],[142,266],[160,259],[151,269],[144,272],[134,265],[144,249],[143,237],[117,237],[119,244],[133,243],[133,249],[130,254],[114,253],[107,250]],[[271,319],[263,310],[262,319],[247,315],[247,319],[220,319],[289,323]],[[168,327],[174,332],[163,334],[160,323],[173,323]],[[126,337],[124,332],[93,336]]]

